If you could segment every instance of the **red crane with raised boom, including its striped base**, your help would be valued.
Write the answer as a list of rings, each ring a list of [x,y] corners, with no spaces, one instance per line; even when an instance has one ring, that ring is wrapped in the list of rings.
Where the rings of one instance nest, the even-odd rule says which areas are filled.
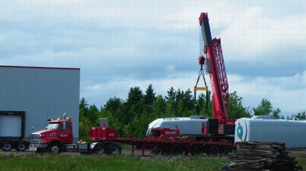
[[[221,39],[211,38],[207,13],[201,13],[199,24],[204,40],[203,51],[206,56],[199,57],[199,64],[205,65],[210,76],[212,88],[213,118],[208,119],[208,134],[234,134],[235,120],[228,119],[227,110],[229,102],[229,84],[221,47]],[[196,90],[196,89],[195,89]]]

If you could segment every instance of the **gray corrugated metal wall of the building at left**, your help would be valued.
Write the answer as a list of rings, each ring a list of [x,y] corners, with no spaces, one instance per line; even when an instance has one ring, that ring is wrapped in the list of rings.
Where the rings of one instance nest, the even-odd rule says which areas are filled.
[[[0,66],[0,111],[25,111],[25,138],[48,118],[72,117],[78,139],[79,68]]]

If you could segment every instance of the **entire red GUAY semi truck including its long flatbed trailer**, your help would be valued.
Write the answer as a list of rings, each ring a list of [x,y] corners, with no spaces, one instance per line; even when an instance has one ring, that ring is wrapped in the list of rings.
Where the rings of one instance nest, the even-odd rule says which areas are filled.
[[[102,124],[101,124],[102,123]],[[154,128],[144,139],[120,138],[116,130],[108,126],[107,119],[101,119],[100,127],[90,128],[91,142],[73,143],[73,123],[71,118],[54,119],[48,122],[44,130],[31,134],[30,151],[57,154],[63,151],[81,154],[121,153],[116,143],[125,143],[134,148],[151,149],[154,154],[228,154],[234,149],[234,143],[226,141],[196,141],[192,136],[180,136],[180,130]]]

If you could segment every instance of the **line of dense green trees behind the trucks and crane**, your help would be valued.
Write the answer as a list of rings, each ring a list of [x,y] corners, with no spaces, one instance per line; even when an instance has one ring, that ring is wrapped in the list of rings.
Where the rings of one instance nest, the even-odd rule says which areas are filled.
[[[199,114],[206,114],[205,105],[208,103],[208,117],[212,118],[211,92],[206,96],[198,95],[196,104],[199,106]],[[272,115],[280,118],[280,109],[273,109],[268,99],[262,99],[256,108],[243,107],[243,98],[234,91],[229,94],[228,117],[237,119],[251,117],[252,115]],[[167,95],[156,95],[153,85],[149,85],[145,92],[140,87],[131,87],[127,99],[111,97],[106,104],[98,109],[94,104],[89,105],[85,98],[79,103],[79,139],[88,141],[90,126],[99,126],[99,118],[108,118],[110,127],[117,130],[122,136],[130,135],[133,138],[144,137],[150,122],[157,118],[189,117],[196,113],[195,101],[190,89],[181,90],[170,87]],[[304,113],[291,117],[305,118]]]

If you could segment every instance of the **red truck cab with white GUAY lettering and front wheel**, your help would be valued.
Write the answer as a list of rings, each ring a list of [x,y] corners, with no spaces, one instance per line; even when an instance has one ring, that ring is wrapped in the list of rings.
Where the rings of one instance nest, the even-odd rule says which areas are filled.
[[[71,118],[51,119],[44,130],[31,134],[29,151],[48,151],[59,153],[65,144],[73,143],[73,124]]]

